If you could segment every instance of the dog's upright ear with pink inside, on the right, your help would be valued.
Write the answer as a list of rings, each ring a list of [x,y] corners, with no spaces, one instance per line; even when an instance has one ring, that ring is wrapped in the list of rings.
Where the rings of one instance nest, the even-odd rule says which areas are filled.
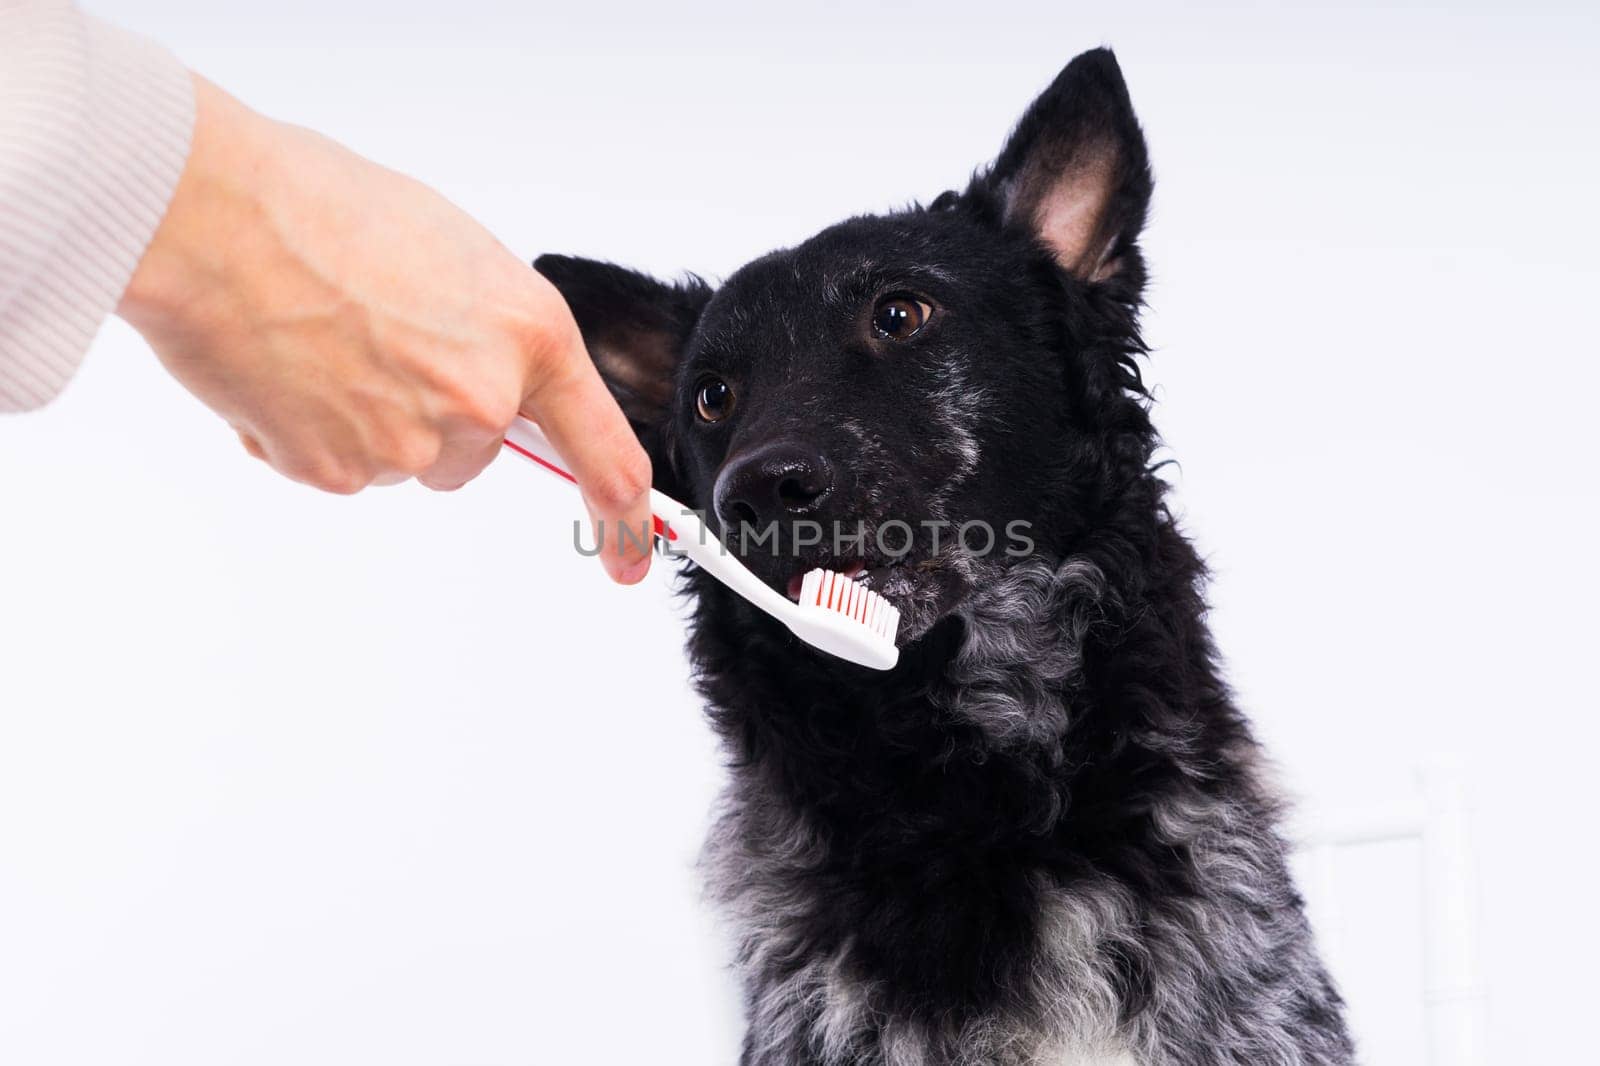
[[[1134,242],[1150,163],[1110,50],[1086,51],[1056,75],[981,181],[1005,224],[1032,230],[1077,277],[1142,285]]]

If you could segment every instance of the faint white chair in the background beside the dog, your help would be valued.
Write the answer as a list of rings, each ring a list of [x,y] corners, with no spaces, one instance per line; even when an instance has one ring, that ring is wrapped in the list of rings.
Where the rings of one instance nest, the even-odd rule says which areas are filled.
[[[1418,771],[1418,794],[1398,804],[1314,808],[1296,823],[1301,890],[1328,967],[1344,972],[1341,853],[1411,842],[1421,850],[1422,1015],[1430,1066],[1485,1066],[1488,992],[1478,954],[1477,864],[1466,773],[1454,759]]]

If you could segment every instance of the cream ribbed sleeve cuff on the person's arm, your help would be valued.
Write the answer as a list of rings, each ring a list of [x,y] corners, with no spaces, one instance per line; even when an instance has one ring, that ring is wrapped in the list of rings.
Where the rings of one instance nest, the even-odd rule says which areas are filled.
[[[0,411],[54,399],[178,186],[189,72],[67,0],[0,0]]]

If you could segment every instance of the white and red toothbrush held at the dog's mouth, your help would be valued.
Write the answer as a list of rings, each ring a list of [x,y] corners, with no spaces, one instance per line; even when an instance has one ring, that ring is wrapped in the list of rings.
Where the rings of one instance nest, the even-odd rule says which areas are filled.
[[[526,418],[512,423],[506,447],[541,469],[578,483],[544,432]],[[728,554],[690,507],[651,488],[650,511],[667,554],[688,555],[701,570],[781,621],[813,648],[875,671],[886,671],[899,659],[899,648],[894,647],[899,610],[859,581],[834,570],[813,570],[802,579],[800,602],[795,603]]]

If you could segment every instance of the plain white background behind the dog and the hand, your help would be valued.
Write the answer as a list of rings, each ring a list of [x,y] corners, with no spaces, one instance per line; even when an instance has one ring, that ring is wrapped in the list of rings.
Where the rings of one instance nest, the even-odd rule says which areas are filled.
[[[1114,45],[1240,699],[1312,807],[1472,760],[1494,1058],[1592,1053],[1594,5],[93,6],[518,254],[710,277],[963,182]],[[282,482],[120,323],[0,421],[0,1063],[731,1063],[678,608],[574,514],[510,461]],[[1374,1064],[1422,1055],[1390,852]]]

